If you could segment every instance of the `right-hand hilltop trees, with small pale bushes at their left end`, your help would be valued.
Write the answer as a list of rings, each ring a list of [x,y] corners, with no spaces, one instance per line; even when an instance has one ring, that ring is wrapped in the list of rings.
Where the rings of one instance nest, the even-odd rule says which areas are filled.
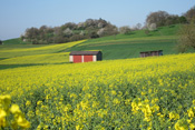
[[[146,21],[144,27],[140,23],[137,23],[135,27],[130,28],[128,26],[124,26],[119,28],[120,33],[128,33],[129,31],[137,30],[137,29],[145,29],[146,33],[149,31],[156,30],[158,27],[172,26],[172,24],[186,24],[191,23],[192,19],[195,17],[195,8],[191,8],[184,14],[169,14],[166,11],[156,11],[150,12],[146,17]],[[142,28],[140,28],[142,27]]]

